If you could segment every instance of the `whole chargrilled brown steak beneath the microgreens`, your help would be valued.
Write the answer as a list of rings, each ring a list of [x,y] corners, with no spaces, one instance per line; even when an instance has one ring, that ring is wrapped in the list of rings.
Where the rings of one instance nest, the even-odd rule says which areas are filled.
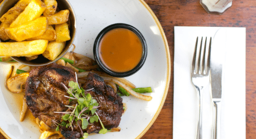
[[[75,73],[67,67],[59,66],[55,63],[47,66],[37,67],[30,71],[26,82],[26,100],[30,111],[35,117],[44,121],[49,127],[55,129],[57,126],[53,122],[61,123],[63,114],[54,112],[71,111],[65,105],[75,105],[76,101],[69,102],[68,95],[61,83],[68,87],[69,81],[76,81]],[[123,111],[122,98],[114,93],[113,89],[104,83],[104,80],[95,73],[89,73],[86,83],[82,88],[92,89],[92,98],[97,100],[99,108],[96,111],[106,129],[118,127]],[[77,121],[81,127],[81,121]],[[60,131],[66,138],[80,138],[80,127],[74,124],[73,130],[65,126],[60,126]],[[82,130],[87,133],[98,133],[102,129],[100,122],[94,122]]]

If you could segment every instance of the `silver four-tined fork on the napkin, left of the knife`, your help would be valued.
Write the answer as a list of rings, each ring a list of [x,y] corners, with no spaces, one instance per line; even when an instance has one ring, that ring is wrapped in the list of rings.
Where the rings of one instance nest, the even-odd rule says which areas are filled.
[[[192,69],[191,69],[191,79],[193,84],[195,85],[195,88],[197,90],[197,96],[199,99],[199,116],[197,119],[197,139],[202,138],[202,90],[205,88],[207,83],[210,82],[210,47],[211,47],[211,38],[209,42],[209,49],[208,49],[208,57],[206,58],[206,47],[207,47],[207,37],[205,39],[205,47],[204,47],[204,53],[202,54],[202,40],[200,42],[200,48],[197,50],[197,44],[198,44],[198,37],[196,39],[196,46],[195,46],[195,52],[194,52],[194,58],[192,62]],[[197,52],[199,52],[198,58]],[[202,62],[201,62],[202,57]]]

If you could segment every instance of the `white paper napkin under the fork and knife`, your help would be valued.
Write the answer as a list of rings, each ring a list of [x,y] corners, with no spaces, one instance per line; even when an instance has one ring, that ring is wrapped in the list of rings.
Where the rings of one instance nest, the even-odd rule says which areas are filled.
[[[173,138],[196,138],[198,98],[191,82],[191,64],[197,36],[214,37],[220,27],[174,27]],[[246,28],[225,27],[221,139],[246,138]],[[211,89],[203,94],[202,137],[212,136]]]

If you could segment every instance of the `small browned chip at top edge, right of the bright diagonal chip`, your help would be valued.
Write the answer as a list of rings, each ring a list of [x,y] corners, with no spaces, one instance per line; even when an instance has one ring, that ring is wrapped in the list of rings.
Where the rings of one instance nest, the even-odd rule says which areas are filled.
[[[42,0],[45,3],[46,9],[44,11],[44,16],[54,15],[57,8],[57,2],[55,0]]]

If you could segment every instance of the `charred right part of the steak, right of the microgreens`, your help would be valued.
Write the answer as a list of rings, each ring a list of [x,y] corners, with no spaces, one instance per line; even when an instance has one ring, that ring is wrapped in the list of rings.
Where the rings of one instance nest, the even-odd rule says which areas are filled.
[[[121,116],[124,112],[123,99],[114,92],[114,89],[106,85],[104,80],[96,73],[89,73],[87,82],[82,84],[83,89],[91,89],[88,91],[92,98],[97,100],[100,108],[96,111],[102,121],[104,127],[108,130],[118,127]],[[100,122],[89,125],[87,133],[99,132],[102,129]]]

